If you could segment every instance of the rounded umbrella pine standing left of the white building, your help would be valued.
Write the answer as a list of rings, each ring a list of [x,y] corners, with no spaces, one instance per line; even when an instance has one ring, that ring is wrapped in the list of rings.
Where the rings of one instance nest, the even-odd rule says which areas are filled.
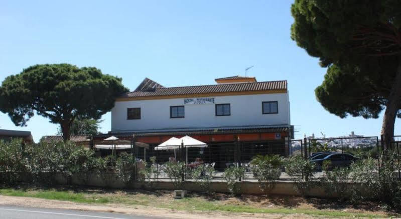
[[[94,67],[34,65],[3,81],[0,111],[17,126],[25,126],[35,113],[49,118],[60,124],[64,140],[68,140],[77,117],[100,119],[127,91],[120,78],[102,74]]]

